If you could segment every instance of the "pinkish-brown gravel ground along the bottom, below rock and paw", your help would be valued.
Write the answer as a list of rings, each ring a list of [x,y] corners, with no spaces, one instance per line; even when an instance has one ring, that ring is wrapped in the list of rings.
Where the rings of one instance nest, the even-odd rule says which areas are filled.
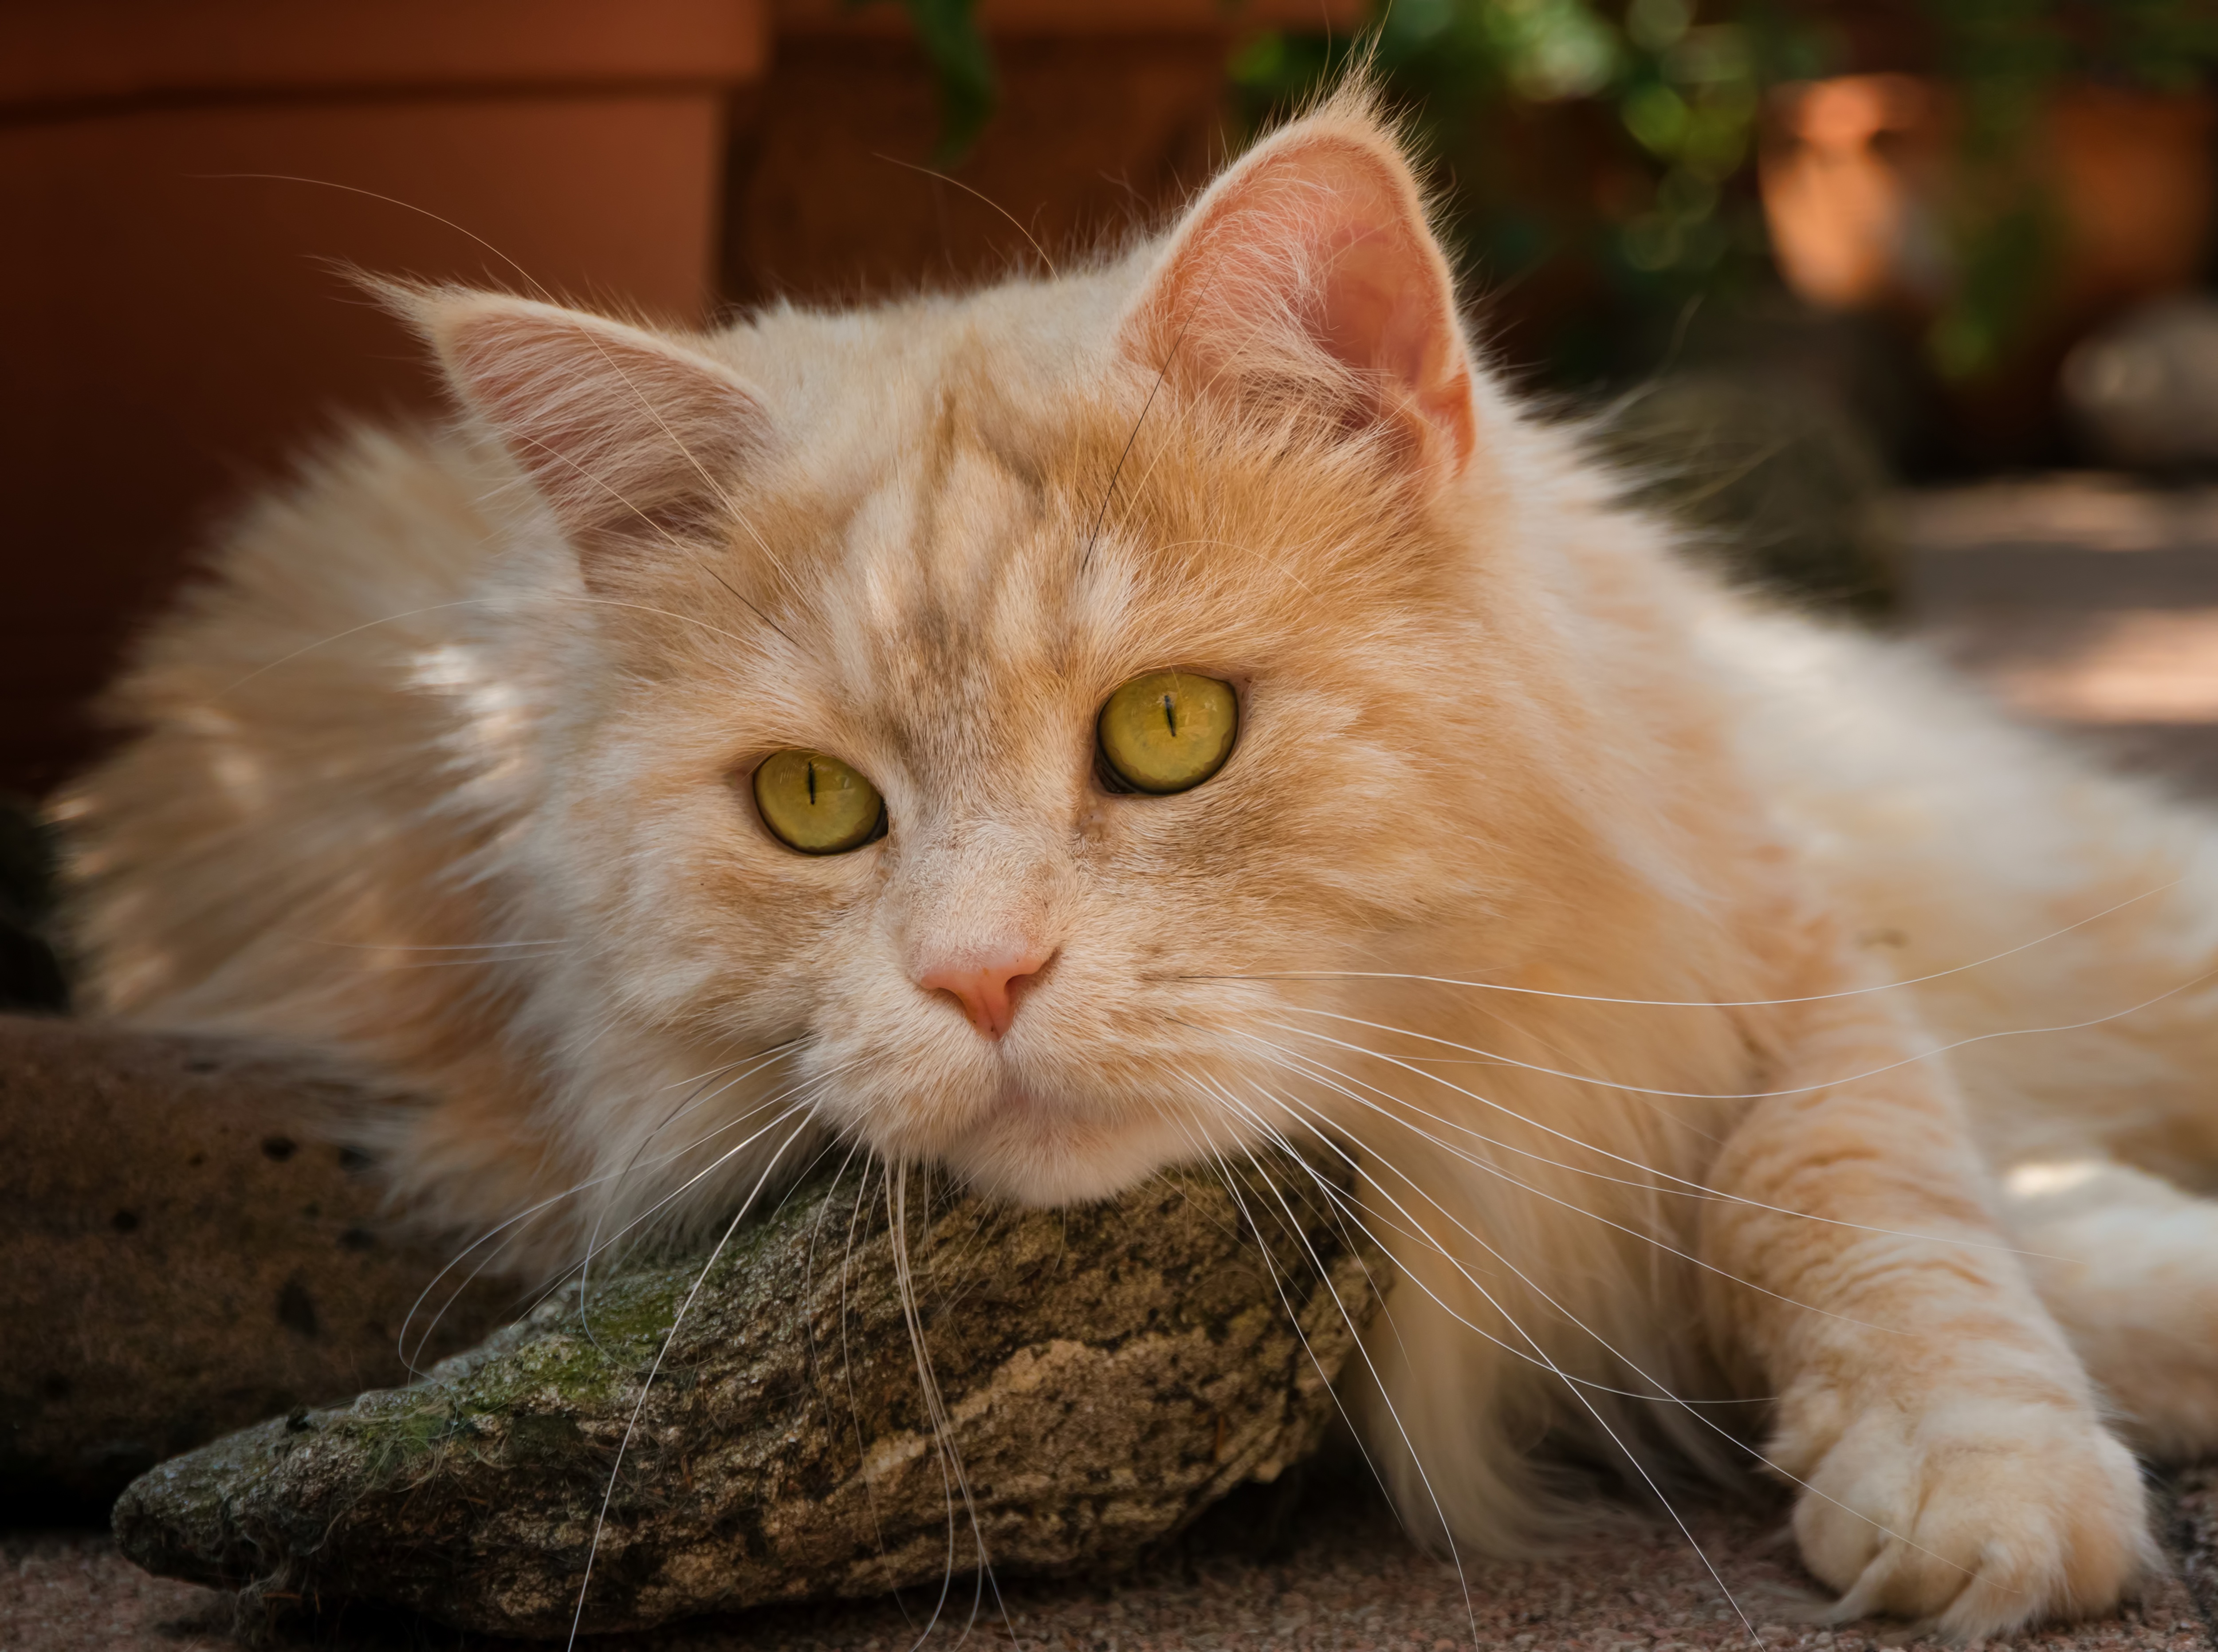
[[[2198,1490],[2196,1497],[2209,1492]],[[2194,1501],[2189,1497],[2187,1501]],[[1766,1648],[1872,1652],[1923,1648],[1901,1625],[1810,1623],[1814,1590],[1779,1539],[1777,1512],[1690,1515],[1739,1612],[1692,1543],[1668,1523],[1641,1523],[1557,1561],[1475,1566],[1420,1554],[1386,1510],[1346,1488],[1313,1495],[1291,1541],[1269,1561],[1224,1552],[1182,1554],[1118,1588],[1011,1583],[1003,1608],[987,1599],[969,1628],[976,1648],[1009,1652],[1697,1652]],[[2194,1521],[2174,1519],[2176,1530]],[[2214,1639],[2187,1577],[2158,1579],[2116,1619],[2018,1641],[2032,1652],[2209,1652]],[[1468,1588],[1468,1594],[1466,1594]],[[974,1588],[963,1581],[940,1621],[934,1599],[792,1608],[679,1630],[594,1639],[597,1652],[905,1652],[965,1641]],[[929,1630],[929,1632],[927,1632]],[[286,1643],[326,1652],[492,1652],[499,1641],[410,1623],[317,1621]],[[208,1590],[135,1572],[93,1534],[18,1537],[0,1543],[0,1645],[9,1652],[189,1652],[233,1648],[228,1603]]]

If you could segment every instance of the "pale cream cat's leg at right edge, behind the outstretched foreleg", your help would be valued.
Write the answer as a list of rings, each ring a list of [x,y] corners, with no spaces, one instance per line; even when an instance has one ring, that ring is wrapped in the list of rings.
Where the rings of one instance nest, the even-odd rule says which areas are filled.
[[[2218,1450],[2218,1202],[2047,1160],[2003,1175],[2003,1220],[2118,1432],[2156,1457]]]

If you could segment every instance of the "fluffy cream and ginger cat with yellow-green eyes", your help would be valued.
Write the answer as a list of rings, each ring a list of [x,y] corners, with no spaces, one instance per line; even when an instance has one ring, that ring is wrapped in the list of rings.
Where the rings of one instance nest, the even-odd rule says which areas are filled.
[[[1360,86],[1071,273],[388,299],[459,417],[262,499],[58,803],[100,1011],[393,1075],[519,1268],[825,1142],[1027,1204],[1324,1142],[1417,1537],[1577,1530],[1588,1461],[1783,1479],[1841,1617],[2158,1563],[2218,836],[1695,568],[1484,361]]]

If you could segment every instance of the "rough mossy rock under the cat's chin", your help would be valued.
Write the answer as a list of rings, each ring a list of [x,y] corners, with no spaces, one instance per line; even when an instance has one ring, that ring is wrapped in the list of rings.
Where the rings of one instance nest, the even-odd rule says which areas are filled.
[[[590,1335],[550,1302],[430,1381],[164,1464],[115,1506],[118,1543],[248,1599],[519,1636],[570,1632],[588,1559],[588,1632],[936,1588],[980,1557],[1107,1572],[1317,1446],[1349,1315],[1386,1277],[1291,1164],[1238,1197],[1187,1171],[1071,1211],[927,1206],[912,1182],[947,1455],[883,1195],[812,1184],[705,1271],[594,1286]]]

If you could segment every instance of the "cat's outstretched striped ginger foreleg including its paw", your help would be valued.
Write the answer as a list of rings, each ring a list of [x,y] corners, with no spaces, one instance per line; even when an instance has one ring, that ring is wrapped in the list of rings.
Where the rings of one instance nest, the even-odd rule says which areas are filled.
[[[1954,1636],[2107,1610],[2154,1563],[2140,1470],[1996,1222],[1952,1080],[1907,1060],[1930,1040],[1899,993],[1801,1011],[1703,1248],[1757,1286],[1719,1286],[1712,1326],[1774,1395],[1803,1559],[1843,1617]]]

